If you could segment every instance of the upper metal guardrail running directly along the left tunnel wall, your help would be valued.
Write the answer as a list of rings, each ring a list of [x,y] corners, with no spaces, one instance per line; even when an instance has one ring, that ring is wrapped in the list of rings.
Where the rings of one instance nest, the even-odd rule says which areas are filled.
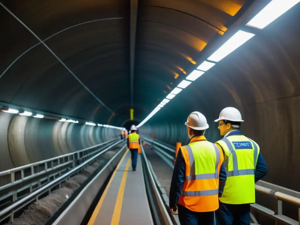
[[[31,193],[46,182],[55,179],[80,161],[96,154],[102,146],[116,140],[117,138],[76,152],[0,172],[2,183],[0,186],[0,209],[8,202],[15,202],[23,195]]]

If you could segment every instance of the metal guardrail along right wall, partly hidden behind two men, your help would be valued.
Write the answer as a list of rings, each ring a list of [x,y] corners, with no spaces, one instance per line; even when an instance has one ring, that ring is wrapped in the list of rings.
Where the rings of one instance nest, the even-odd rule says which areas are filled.
[[[154,148],[157,148],[157,146],[159,146],[160,148],[157,148],[159,151],[161,151],[161,148],[163,148],[163,149],[166,149],[170,152],[170,147],[164,146],[163,144],[158,143],[156,141],[153,141],[152,139],[147,138],[147,137],[144,137],[144,139],[148,143],[152,143]],[[171,151],[171,152],[175,153],[175,150],[173,149],[173,151]],[[165,153],[167,153],[167,152],[165,152]],[[164,155],[166,155],[166,154],[164,154]],[[170,156],[172,157],[172,155],[170,155]],[[173,157],[175,157],[175,155]],[[168,158],[170,158],[170,157],[168,157]],[[167,159],[167,157],[165,159]],[[269,184],[269,186],[272,185],[271,183],[268,183],[268,182],[260,182],[259,184],[263,184],[263,183]],[[280,187],[280,186],[277,186],[277,187],[279,187],[281,190],[285,189],[284,187]],[[274,206],[274,211],[273,211],[273,210],[271,210],[269,208],[266,208],[262,205],[254,203],[254,204],[251,204],[251,208],[254,211],[271,218],[272,220],[275,221],[276,224],[280,223],[280,224],[286,224],[286,225],[300,225],[300,198],[295,197],[295,196],[291,196],[289,194],[282,193],[280,191],[276,191],[276,190],[273,190],[273,189],[270,189],[270,188],[267,188],[267,187],[263,187],[263,186],[258,185],[258,184],[255,184],[255,190],[256,190],[256,192],[266,194],[268,196],[273,197],[275,199],[275,206]],[[298,193],[298,194],[300,196],[300,193]],[[296,205],[298,207],[298,221],[294,220],[292,218],[289,218],[289,217],[282,214],[282,202],[283,201],[284,202],[289,202],[289,203],[291,203],[293,205]],[[256,221],[255,218],[251,218],[251,219],[255,220],[254,223],[257,224],[257,221]]]

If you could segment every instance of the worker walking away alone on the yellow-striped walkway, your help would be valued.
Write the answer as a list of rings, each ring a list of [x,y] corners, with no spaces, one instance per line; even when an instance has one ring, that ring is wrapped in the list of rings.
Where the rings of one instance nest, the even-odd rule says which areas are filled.
[[[137,134],[137,127],[135,125],[132,125],[130,130],[131,133],[128,135],[127,147],[131,152],[132,170],[136,171],[137,155],[138,155],[138,150],[140,148],[141,139],[140,139],[140,135]]]

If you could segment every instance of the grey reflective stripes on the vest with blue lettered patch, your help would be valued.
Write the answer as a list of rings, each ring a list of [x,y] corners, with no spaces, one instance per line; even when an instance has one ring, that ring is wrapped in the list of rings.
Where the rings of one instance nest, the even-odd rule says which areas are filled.
[[[254,168],[256,166],[256,158],[257,158],[257,146],[256,144],[253,143],[253,141],[249,138],[250,142],[254,146],[254,155],[253,155],[253,163],[254,163]],[[228,149],[229,149],[229,156],[227,157],[225,164],[226,164],[226,170],[227,170],[227,177],[232,177],[232,176],[240,176],[240,175],[254,175],[255,170],[254,169],[243,169],[239,170],[238,169],[238,159],[236,157],[236,152],[235,149],[233,149],[231,142],[225,137],[222,139],[223,142],[226,143]],[[232,162],[233,162],[233,170],[228,171],[228,161],[230,155],[232,156]]]

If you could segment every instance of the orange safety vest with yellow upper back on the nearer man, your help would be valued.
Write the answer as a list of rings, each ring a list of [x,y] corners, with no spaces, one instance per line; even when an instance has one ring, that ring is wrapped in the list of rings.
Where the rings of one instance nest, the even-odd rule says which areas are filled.
[[[202,136],[193,137],[182,146],[185,181],[178,204],[195,212],[211,212],[219,208],[219,173],[224,161],[222,150]]]

